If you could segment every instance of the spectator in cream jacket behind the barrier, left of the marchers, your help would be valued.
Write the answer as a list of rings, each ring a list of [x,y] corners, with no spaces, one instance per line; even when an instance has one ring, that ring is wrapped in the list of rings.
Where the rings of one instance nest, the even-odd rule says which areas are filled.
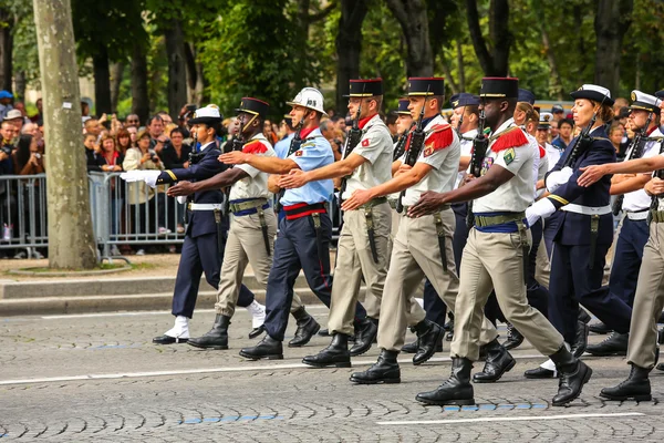
[[[157,117],[159,123],[162,119]],[[152,121],[154,121],[153,117]],[[151,123],[152,123],[151,121]],[[155,151],[151,150],[152,136],[148,130],[138,133],[138,147],[132,147],[127,151],[122,164],[124,171],[135,169],[164,169],[164,165]],[[127,200],[132,206],[133,223],[135,234],[152,234],[154,228],[154,214],[157,213],[157,198],[155,189],[147,186],[145,182],[129,183],[127,187]],[[136,255],[145,255],[145,249],[141,248]]]

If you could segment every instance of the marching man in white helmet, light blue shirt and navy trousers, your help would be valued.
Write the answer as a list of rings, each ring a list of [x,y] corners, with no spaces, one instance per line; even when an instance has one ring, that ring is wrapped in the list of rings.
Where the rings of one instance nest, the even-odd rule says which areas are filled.
[[[291,146],[287,158],[264,157],[251,153],[231,152],[219,159],[227,164],[247,164],[268,174],[288,174],[293,168],[311,171],[334,162],[332,147],[319,130],[323,111],[323,95],[313,87],[304,87],[289,103],[293,126],[300,125],[301,144]],[[299,143],[300,143],[299,142]],[[251,359],[282,359],[282,341],[288,326],[288,313],[293,298],[293,285],[300,270],[304,271],[310,288],[330,306],[332,278],[330,276],[330,239],[332,222],[326,202],[332,195],[332,181],[313,182],[298,189],[288,189],[281,197],[286,218],[279,224],[274,243],[273,264],[268,277],[266,295],[266,337],[240,356]],[[356,316],[366,313],[361,306]],[[320,329],[315,323],[309,332]]]

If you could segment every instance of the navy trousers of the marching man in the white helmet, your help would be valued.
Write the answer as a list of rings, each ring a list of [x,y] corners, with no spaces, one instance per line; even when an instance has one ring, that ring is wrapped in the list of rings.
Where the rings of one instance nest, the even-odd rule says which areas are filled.
[[[332,297],[330,276],[330,239],[332,220],[321,214],[322,256],[317,247],[315,229],[311,216],[279,222],[279,235],[274,241],[274,257],[266,296],[266,329],[274,340],[283,341],[290,306],[293,300],[293,286],[300,270],[315,296],[329,308]],[[338,276],[341,278],[342,276]],[[366,311],[357,303],[355,317],[365,318]]]

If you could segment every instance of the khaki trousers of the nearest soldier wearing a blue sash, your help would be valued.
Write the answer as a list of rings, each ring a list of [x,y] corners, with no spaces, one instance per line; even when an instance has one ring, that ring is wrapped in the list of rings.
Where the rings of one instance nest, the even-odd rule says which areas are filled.
[[[528,231],[528,241],[531,241]],[[528,305],[519,233],[489,234],[470,229],[461,258],[461,286],[454,311],[452,357],[477,360],[483,311],[491,289],[519,332],[544,356],[560,349],[562,336],[540,311]]]

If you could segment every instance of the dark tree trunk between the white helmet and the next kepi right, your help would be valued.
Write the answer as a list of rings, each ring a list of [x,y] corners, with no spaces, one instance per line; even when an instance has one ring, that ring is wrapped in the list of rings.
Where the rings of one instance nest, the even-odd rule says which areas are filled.
[[[366,0],[341,0],[341,18],[336,33],[336,112],[346,115],[351,79],[360,78],[362,22],[369,12]]]

